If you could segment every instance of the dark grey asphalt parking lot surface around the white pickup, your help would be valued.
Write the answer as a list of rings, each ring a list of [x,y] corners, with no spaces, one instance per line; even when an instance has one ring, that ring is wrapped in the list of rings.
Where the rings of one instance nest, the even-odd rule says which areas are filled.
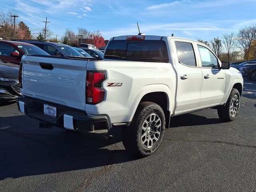
[[[16,103],[0,106],[0,192],[256,192],[256,82],[244,81],[236,120],[207,109],[171,119],[160,148],[130,156],[120,128],[107,141],[38,127]]]

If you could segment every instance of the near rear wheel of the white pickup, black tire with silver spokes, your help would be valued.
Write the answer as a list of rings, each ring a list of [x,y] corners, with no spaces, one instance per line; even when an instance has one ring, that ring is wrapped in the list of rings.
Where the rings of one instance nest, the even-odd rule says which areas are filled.
[[[162,142],[164,129],[165,117],[162,108],[153,102],[142,102],[138,105],[131,125],[122,128],[124,148],[137,157],[149,156]]]

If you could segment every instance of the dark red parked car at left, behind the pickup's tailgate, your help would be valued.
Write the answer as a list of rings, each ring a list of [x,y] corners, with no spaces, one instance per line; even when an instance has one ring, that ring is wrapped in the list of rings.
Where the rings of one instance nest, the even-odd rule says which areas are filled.
[[[33,54],[49,55],[44,50],[32,44],[0,40],[0,59],[5,62],[20,64],[23,55]]]

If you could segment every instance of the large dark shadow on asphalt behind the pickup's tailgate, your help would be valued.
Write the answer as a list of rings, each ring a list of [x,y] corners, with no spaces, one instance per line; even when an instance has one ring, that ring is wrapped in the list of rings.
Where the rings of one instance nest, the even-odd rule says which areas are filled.
[[[110,130],[114,137],[107,141],[56,127],[40,129],[38,121],[24,115],[0,117],[0,122],[0,180],[136,160],[117,144],[120,128]]]

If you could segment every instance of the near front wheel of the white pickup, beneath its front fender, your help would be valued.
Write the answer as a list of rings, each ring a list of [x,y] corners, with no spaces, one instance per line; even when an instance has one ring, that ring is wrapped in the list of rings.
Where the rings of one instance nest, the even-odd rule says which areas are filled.
[[[232,88],[225,106],[218,108],[218,116],[221,120],[233,121],[240,108],[240,94],[237,89]]]

